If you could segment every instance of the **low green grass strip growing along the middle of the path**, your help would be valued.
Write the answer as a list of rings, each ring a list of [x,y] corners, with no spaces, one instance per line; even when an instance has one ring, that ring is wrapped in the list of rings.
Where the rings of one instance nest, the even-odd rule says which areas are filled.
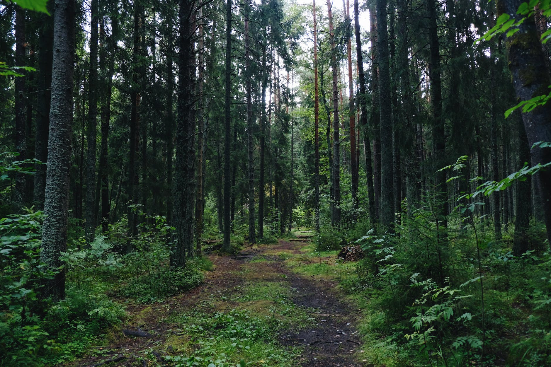
[[[271,256],[292,258],[279,251]],[[169,316],[175,325],[163,345],[169,366],[295,366],[300,348],[283,347],[281,330],[311,327],[310,313],[290,299],[291,284],[284,274],[268,268],[266,257],[247,262],[240,270],[243,283],[228,292],[204,296],[191,310]],[[143,351],[143,360],[158,363],[152,351]]]

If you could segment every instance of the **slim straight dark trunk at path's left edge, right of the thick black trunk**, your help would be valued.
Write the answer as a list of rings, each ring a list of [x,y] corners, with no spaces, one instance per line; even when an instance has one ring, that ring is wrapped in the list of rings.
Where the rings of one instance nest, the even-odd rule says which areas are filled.
[[[230,132],[231,132],[231,0],[226,0],[226,93],[224,111],[224,243],[223,249],[231,251],[230,244]]]

